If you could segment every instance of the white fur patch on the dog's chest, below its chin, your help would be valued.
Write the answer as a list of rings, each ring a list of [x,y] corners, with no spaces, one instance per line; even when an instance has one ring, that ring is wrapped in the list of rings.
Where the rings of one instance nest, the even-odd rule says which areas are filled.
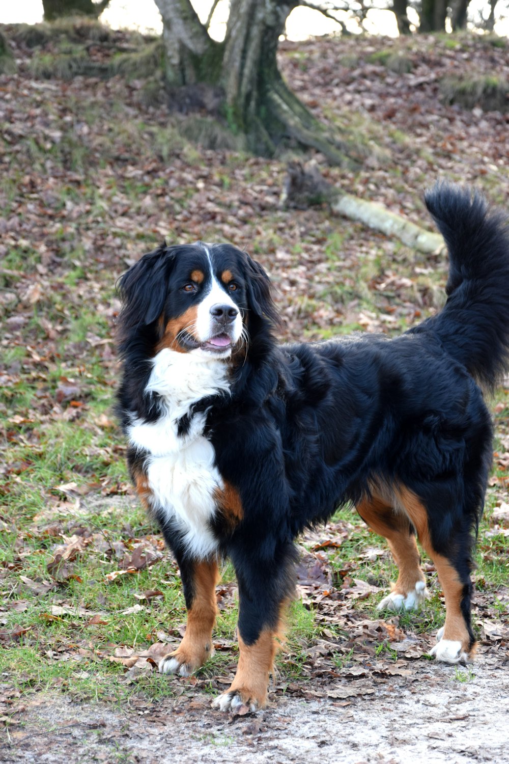
[[[206,413],[192,417],[185,435],[178,421],[192,403],[227,392],[227,367],[215,358],[196,358],[168,348],[153,360],[147,391],[159,393],[163,406],[156,422],[134,413],[128,435],[131,445],[149,452],[145,468],[154,510],[163,510],[179,529],[188,552],[204,558],[217,548],[209,522],[216,511],[214,494],[223,487],[211,442],[203,435]]]

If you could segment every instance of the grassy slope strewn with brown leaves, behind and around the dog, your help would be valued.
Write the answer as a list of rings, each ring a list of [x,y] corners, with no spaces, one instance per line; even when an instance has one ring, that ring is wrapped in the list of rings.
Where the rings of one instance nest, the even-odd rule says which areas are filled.
[[[88,55],[103,69],[113,66],[114,46],[139,55],[138,37],[110,33],[113,45],[101,48],[95,32],[80,34],[86,42],[92,35],[97,47],[89,45]],[[285,338],[319,338],[359,328],[394,333],[424,318],[443,299],[446,262],[330,219],[324,209],[279,209],[286,157],[269,162],[189,144],[191,122],[168,117],[156,78],[40,79],[41,59],[50,71],[52,56],[74,52],[82,59],[83,42],[79,47],[66,34],[27,47],[21,34],[15,39],[18,73],[2,77],[0,103],[0,669],[23,689],[56,685],[76,697],[143,691],[157,698],[183,691],[188,681],[161,681],[150,663],[125,675],[128,653],[178,639],[185,610],[176,566],[160,554],[156,529],[132,498],[111,414],[115,280],[164,236],[234,241],[272,274]],[[284,48],[289,81],[363,158],[357,170],[326,169],[331,182],[424,225],[422,191],[437,175],[475,179],[495,201],[507,199],[504,117],[443,105],[437,84],[466,59],[487,74],[490,67],[507,70],[506,49],[469,38]],[[388,66],[395,53],[411,62],[403,75]],[[218,135],[227,141],[215,131],[214,145]],[[507,616],[507,516],[496,523],[492,516],[507,502],[507,390],[494,411],[498,458],[476,574],[484,620]],[[323,539],[332,543],[321,545]],[[108,581],[140,542],[156,562]],[[425,613],[392,618],[378,636],[354,638],[351,624],[375,622],[382,596],[362,594],[355,581],[381,588],[394,578],[381,540],[343,510],[306,544],[314,549],[306,564],[316,587],[304,585],[293,606],[279,688],[341,674],[353,661],[394,659],[389,643],[399,627],[424,635],[426,652],[428,634],[443,620],[430,565],[433,598]],[[59,547],[69,552],[60,568],[52,566]],[[214,691],[221,686],[214,677],[234,669],[232,580],[226,568],[216,656],[198,678]],[[154,591],[163,595],[143,599]]]

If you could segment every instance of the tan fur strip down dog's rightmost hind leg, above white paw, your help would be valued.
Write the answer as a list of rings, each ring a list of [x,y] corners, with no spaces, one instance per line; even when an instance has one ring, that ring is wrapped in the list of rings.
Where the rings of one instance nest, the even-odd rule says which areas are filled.
[[[433,549],[430,529],[427,521],[427,511],[419,498],[411,490],[402,486],[397,491],[404,510],[410,517],[417,530],[417,536],[427,554],[437,568],[438,579],[446,600],[446,623],[443,627],[442,639],[461,643],[462,652],[469,654],[470,636],[461,611],[463,584],[456,570],[446,557],[439,555]]]

